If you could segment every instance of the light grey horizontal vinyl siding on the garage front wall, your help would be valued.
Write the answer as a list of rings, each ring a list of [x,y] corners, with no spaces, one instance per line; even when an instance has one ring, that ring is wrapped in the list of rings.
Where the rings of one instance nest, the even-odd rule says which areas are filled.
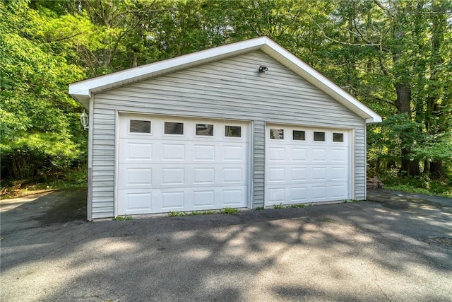
[[[268,71],[258,73],[265,65]],[[355,192],[364,199],[364,122],[261,51],[114,88],[94,97],[93,218],[114,216],[116,110],[253,120],[253,207],[263,205],[265,123],[355,129]]]

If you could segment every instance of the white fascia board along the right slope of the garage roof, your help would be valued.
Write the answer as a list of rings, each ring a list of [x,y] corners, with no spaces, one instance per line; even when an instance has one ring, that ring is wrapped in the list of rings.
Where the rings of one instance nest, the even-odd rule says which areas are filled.
[[[313,84],[317,88],[321,89],[321,91],[327,93],[332,98],[337,100],[339,103],[343,104],[345,107],[349,108],[352,112],[355,112],[360,117],[363,117],[364,120],[366,120],[366,123],[374,123],[374,122],[381,122],[381,116],[376,114],[373,110],[368,108],[363,103],[359,102],[356,98],[354,98],[352,95],[344,91],[342,88],[337,86],[335,83],[330,81],[326,76],[323,76],[319,73],[319,71],[316,71],[311,66],[303,62],[301,59],[296,57],[291,52],[285,50],[285,48],[278,45],[278,43],[274,42],[273,40],[270,40],[268,37],[266,38],[266,46],[270,48],[270,50],[273,50],[274,52],[277,52],[281,56],[283,56],[285,59],[287,59],[290,63],[295,64],[297,68],[290,68],[287,66],[287,62],[280,62],[287,66],[287,68],[292,69],[292,71],[295,71],[299,76],[302,76],[304,79],[309,81],[309,83]],[[270,57],[273,57],[274,59],[277,59],[275,57],[274,53],[266,47],[262,47],[263,52],[266,52],[270,55]],[[280,61],[280,60],[278,60]]]

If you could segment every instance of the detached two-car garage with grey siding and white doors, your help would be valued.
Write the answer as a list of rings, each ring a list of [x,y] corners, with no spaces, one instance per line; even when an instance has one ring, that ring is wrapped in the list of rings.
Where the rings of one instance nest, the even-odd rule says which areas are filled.
[[[268,37],[73,83],[88,219],[366,197],[381,117]]]

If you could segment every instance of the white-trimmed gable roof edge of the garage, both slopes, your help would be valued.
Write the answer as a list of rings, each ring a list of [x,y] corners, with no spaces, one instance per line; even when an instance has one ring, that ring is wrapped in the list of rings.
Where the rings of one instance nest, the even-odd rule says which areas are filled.
[[[151,79],[163,74],[169,74],[192,66],[198,66],[209,62],[218,61],[238,54],[261,50],[268,56],[283,64],[287,69],[295,72],[303,79],[328,94],[356,115],[362,117],[367,124],[381,122],[381,117],[366,105],[362,104],[352,95],[344,91],[335,83],[327,79],[308,64],[304,63],[294,54],[285,50],[269,37],[257,37],[251,40],[235,42],[228,45],[213,47],[191,54],[185,54],[173,59],[146,64],[143,66],[117,71],[105,76],[97,76],[93,79],[69,84],[69,94],[76,98],[88,109],[89,101],[93,93],[99,93],[129,83]]]

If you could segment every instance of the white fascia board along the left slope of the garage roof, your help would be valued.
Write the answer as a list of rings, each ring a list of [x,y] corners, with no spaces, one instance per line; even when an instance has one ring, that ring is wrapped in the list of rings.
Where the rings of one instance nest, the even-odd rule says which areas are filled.
[[[189,66],[211,62],[218,58],[232,57],[239,53],[258,50],[261,45],[265,44],[265,41],[265,37],[258,37],[71,83],[69,85],[69,94],[77,95],[77,99],[82,95],[90,98],[91,92],[100,92],[125,83],[149,79],[154,75],[164,74],[165,71],[184,69]]]

